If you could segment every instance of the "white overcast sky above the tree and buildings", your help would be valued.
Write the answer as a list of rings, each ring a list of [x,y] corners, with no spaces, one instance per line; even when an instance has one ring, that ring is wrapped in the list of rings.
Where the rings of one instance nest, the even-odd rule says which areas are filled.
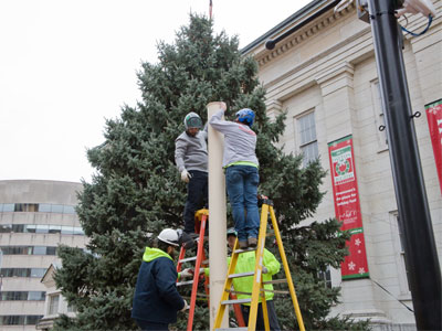
[[[245,46],[309,0],[213,0]],[[209,0],[0,0],[0,180],[91,181],[86,149],[140,94],[141,61]]]

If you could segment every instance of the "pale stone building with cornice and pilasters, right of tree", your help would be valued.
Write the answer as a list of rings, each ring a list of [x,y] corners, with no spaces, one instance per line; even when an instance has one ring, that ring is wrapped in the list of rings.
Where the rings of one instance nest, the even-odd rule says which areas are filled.
[[[378,330],[415,329],[414,314],[407,308],[412,309],[412,301],[387,135],[386,130],[379,130],[385,122],[371,28],[358,19],[354,1],[334,12],[338,2],[312,1],[245,46],[242,53],[259,63],[269,116],[287,113],[280,146],[286,153],[303,152],[305,163],[319,157],[323,168],[328,170],[322,185],[327,194],[313,218],[334,217],[335,205],[343,205],[340,197],[348,197],[345,202],[350,203],[358,196],[359,231],[364,231],[359,235],[366,247],[356,249],[355,254],[366,254],[366,267],[347,260],[345,269],[332,269],[324,275],[328,286],[341,287],[341,303],[333,308],[333,314],[369,318]],[[442,98],[442,1],[432,2],[436,18],[425,34],[406,35],[403,57],[413,111],[422,113],[412,120],[441,261],[442,183],[438,180],[424,109],[425,105]],[[424,30],[428,19],[417,14],[401,22],[408,24],[408,30],[419,32]],[[266,40],[290,29],[294,33],[275,49],[265,49]],[[348,158],[336,164],[333,161],[330,167],[330,151],[344,142],[347,147],[352,143],[352,154],[348,153]],[[336,179],[340,177],[345,182],[349,175],[355,179],[351,194],[356,195],[343,194],[335,199]],[[351,213],[341,215],[351,217]]]

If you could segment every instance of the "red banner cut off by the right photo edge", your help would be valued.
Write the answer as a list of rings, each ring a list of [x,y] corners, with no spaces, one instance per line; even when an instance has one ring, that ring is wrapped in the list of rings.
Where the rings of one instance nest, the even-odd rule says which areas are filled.
[[[425,106],[427,119],[433,145],[435,168],[439,175],[439,186],[442,194],[442,99]]]

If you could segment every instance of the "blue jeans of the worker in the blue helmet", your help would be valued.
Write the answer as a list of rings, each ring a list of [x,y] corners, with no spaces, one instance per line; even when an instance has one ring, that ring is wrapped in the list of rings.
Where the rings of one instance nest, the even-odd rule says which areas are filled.
[[[232,206],[234,227],[239,241],[257,238],[260,213],[257,210],[257,168],[231,166],[225,170],[225,186]]]

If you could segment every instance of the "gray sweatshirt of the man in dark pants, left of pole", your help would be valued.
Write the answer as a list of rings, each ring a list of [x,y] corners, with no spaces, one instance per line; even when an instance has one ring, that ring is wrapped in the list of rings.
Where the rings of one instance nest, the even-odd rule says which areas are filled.
[[[175,140],[175,163],[182,170],[208,171],[207,130],[191,137],[182,132]]]

